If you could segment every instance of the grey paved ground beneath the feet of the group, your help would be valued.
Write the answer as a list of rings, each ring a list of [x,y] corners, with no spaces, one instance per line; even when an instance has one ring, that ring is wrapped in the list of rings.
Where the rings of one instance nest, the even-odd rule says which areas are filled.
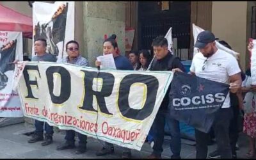
[[[72,150],[56,150],[57,145],[64,141],[64,134],[61,132],[54,133],[53,139],[54,143],[48,146],[41,146],[41,142],[28,143],[29,136],[25,136],[23,133],[33,131],[34,128],[31,125],[16,124],[9,125],[6,127],[0,127],[0,158],[120,158],[122,156],[122,149],[115,146],[115,154],[97,157],[95,152],[101,148],[99,141],[88,138],[87,152],[81,155],[75,154],[75,149]],[[170,147],[168,146],[168,136],[164,140],[164,152],[163,158],[170,158],[172,155]],[[187,144],[185,144],[187,143]],[[195,158],[195,144],[193,141],[182,140],[182,158]],[[77,141],[76,141],[77,144]],[[237,151],[237,157],[244,158],[247,152],[248,140],[241,134],[239,137],[239,150]],[[214,150],[216,145],[209,146],[209,152]],[[141,151],[132,150],[133,158],[145,158],[150,155],[152,148],[148,143],[143,145]]]

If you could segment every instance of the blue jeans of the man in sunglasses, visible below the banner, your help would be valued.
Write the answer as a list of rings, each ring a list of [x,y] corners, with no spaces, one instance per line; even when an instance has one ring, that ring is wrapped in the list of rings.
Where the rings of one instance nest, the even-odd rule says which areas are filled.
[[[67,143],[70,145],[73,145],[75,143],[75,131],[73,130],[67,130],[65,140],[67,140]],[[86,147],[87,143],[87,136],[81,133],[78,133],[78,139],[79,139],[79,147]]]

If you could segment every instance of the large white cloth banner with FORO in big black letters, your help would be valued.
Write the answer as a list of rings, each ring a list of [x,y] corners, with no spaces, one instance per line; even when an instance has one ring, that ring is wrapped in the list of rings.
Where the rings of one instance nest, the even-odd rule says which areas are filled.
[[[170,71],[100,70],[28,62],[18,91],[24,115],[140,150],[172,81]]]

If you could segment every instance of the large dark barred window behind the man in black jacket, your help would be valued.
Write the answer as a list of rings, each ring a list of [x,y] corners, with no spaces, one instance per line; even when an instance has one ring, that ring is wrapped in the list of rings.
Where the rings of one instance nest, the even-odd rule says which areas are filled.
[[[161,1],[139,2],[139,43],[140,49],[152,49],[151,44],[157,36],[166,35],[172,27],[172,36],[177,38],[175,56],[181,59],[181,50],[190,52],[191,2],[169,1],[167,10],[163,10]]]

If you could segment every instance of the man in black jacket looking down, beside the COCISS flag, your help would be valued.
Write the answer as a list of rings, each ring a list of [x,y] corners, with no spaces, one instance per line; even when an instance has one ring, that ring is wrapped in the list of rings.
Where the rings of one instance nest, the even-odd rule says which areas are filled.
[[[150,70],[172,70],[172,71],[183,71],[185,72],[185,68],[180,62],[178,58],[172,55],[170,51],[168,51],[168,41],[163,36],[157,37],[152,43],[155,58],[152,62]],[[181,141],[180,141],[180,128],[179,121],[171,118],[168,111],[168,103],[169,97],[168,93],[170,91],[170,87],[168,88],[168,92],[166,93],[163,102],[157,112],[156,118],[152,125],[153,135],[154,135],[154,146],[153,152],[148,158],[161,158],[161,154],[163,152],[163,141],[164,141],[164,124],[165,120],[168,120],[168,124],[170,124],[171,136],[172,140],[170,141],[170,148],[172,150],[172,158],[180,158],[180,149],[181,149]]]

